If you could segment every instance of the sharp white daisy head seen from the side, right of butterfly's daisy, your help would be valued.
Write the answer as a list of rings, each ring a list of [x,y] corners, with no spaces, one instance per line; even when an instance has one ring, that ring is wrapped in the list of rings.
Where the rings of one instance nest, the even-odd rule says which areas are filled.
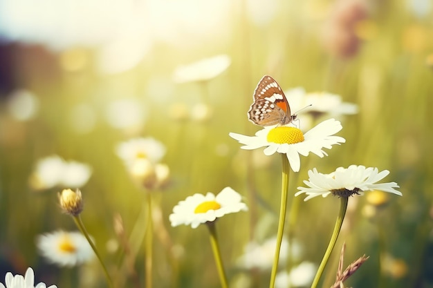
[[[329,194],[338,196],[349,196],[362,194],[365,191],[379,190],[396,195],[402,195],[401,192],[394,188],[399,188],[396,182],[378,183],[389,174],[384,170],[379,172],[377,168],[351,165],[349,168],[339,167],[333,173],[322,174],[317,169],[308,171],[308,181],[304,180],[306,187],[297,187],[298,191],[295,196],[306,193],[306,200],[322,195],[326,197]]]

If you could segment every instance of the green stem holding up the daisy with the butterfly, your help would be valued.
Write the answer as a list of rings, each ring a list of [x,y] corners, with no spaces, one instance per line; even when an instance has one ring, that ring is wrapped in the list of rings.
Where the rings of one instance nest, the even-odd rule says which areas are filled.
[[[283,241],[284,233],[284,222],[286,220],[286,209],[287,209],[287,195],[288,195],[288,176],[290,175],[290,164],[286,154],[282,153],[282,186],[281,186],[281,204],[279,207],[279,220],[278,220],[278,231],[277,231],[277,247],[275,247],[274,262],[272,265],[272,271],[270,273],[269,288],[273,288],[275,285],[275,278],[277,277],[279,251],[281,250],[281,244]]]

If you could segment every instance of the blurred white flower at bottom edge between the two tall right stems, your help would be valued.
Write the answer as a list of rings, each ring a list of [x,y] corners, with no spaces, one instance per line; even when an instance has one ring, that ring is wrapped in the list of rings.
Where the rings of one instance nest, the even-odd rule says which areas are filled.
[[[275,288],[308,287],[311,285],[316,271],[317,265],[304,261],[297,267],[293,267],[290,273],[286,271],[278,273],[275,278]]]

